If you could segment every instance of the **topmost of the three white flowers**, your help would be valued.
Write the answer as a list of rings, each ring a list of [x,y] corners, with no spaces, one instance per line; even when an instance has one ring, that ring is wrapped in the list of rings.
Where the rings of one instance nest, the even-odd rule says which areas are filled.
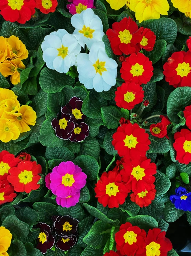
[[[71,24],[76,28],[73,35],[83,48],[86,44],[90,50],[94,42],[102,41],[103,25],[101,19],[94,14],[92,9],[88,8],[81,14],[74,14],[71,18]]]

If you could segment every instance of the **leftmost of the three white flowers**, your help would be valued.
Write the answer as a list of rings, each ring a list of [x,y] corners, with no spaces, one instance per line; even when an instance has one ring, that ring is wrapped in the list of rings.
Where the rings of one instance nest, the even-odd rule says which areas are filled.
[[[81,51],[76,37],[65,29],[59,29],[45,36],[41,47],[42,58],[47,67],[59,73],[67,73],[69,68],[76,63],[76,55]]]

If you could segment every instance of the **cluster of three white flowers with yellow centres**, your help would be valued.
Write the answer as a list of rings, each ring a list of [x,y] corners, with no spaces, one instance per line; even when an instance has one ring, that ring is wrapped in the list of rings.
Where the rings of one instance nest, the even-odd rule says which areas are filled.
[[[77,66],[79,81],[87,89],[108,91],[116,83],[117,62],[109,58],[102,42],[104,35],[101,19],[88,8],[71,18],[73,34],[59,29],[44,37],[43,60],[49,69],[67,73]],[[89,54],[80,53],[85,44]]]

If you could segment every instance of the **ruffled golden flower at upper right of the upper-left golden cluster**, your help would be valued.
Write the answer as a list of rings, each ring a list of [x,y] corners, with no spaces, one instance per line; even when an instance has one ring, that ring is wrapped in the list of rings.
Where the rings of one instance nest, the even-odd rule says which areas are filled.
[[[18,36],[10,36],[9,38],[6,38],[6,40],[12,49],[11,58],[18,58],[21,60],[27,59],[29,52],[26,49],[25,44],[19,40]]]

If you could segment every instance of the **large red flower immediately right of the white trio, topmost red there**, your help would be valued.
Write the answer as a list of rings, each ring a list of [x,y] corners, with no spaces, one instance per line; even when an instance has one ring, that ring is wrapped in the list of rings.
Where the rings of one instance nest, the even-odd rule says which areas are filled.
[[[130,17],[113,23],[112,29],[109,28],[106,32],[113,53],[116,55],[122,55],[122,53],[128,55],[139,52],[142,31],[143,27],[138,29],[137,24]]]

